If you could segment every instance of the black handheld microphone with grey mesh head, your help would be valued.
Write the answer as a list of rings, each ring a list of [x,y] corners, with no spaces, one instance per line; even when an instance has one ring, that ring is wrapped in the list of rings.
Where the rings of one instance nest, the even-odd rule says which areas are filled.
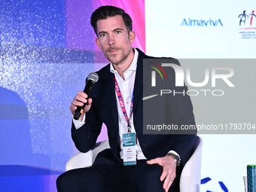
[[[90,92],[93,90],[94,84],[99,80],[99,76],[96,73],[90,73],[85,82],[84,93],[87,94],[87,102],[90,96]],[[74,119],[78,120],[81,114],[84,112],[84,107],[87,105],[87,102],[83,106],[78,106],[75,110]]]

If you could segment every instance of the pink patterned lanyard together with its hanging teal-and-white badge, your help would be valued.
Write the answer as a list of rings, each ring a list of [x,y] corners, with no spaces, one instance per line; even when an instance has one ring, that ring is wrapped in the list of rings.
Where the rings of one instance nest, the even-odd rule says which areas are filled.
[[[127,133],[123,133],[123,166],[136,165],[136,134],[131,133],[132,127],[130,125],[130,118],[126,114],[126,109],[123,102],[122,94],[120,93],[119,85],[116,78],[114,78],[114,87],[117,93],[117,98],[120,104],[120,108],[123,111],[123,116],[127,122]],[[133,113],[133,96],[130,106],[130,117]]]

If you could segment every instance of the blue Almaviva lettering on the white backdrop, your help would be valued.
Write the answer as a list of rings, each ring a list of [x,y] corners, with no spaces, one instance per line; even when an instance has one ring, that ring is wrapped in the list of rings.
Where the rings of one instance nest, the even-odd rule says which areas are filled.
[[[221,19],[212,20],[191,20],[188,18],[187,20],[184,18],[182,20],[181,26],[223,26]]]

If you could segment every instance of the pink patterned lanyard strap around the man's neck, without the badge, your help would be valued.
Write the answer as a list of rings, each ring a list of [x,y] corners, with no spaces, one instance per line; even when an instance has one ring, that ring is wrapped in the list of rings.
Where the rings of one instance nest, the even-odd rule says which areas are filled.
[[[123,116],[127,122],[128,133],[131,133],[132,127],[130,125],[130,118],[132,117],[132,112],[133,112],[133,96],[132,96],[131,106],[130,106],[130,118],[128,118],[128,116],[126,114],[126,109],[124,107],[123,97],[120,92],[119,85],[117,84],[117,79],[115,77],[114,77],[114,88],[115,88],[115,92],[117,93],[117,98],[119,100],[120,107],[123,111]],[[133,91],[134,91],[134,87],[133,87]]]

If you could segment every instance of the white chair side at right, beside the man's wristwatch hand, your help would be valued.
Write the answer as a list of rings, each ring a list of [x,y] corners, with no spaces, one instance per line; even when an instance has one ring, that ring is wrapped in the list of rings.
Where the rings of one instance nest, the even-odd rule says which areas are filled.
[[[198,192],[200,191],[201,180],[201,159],[202,159],[202,139],[197,136],[194,146],[191,150],[191,157],[184,165],[181,172],[180,191]]]

